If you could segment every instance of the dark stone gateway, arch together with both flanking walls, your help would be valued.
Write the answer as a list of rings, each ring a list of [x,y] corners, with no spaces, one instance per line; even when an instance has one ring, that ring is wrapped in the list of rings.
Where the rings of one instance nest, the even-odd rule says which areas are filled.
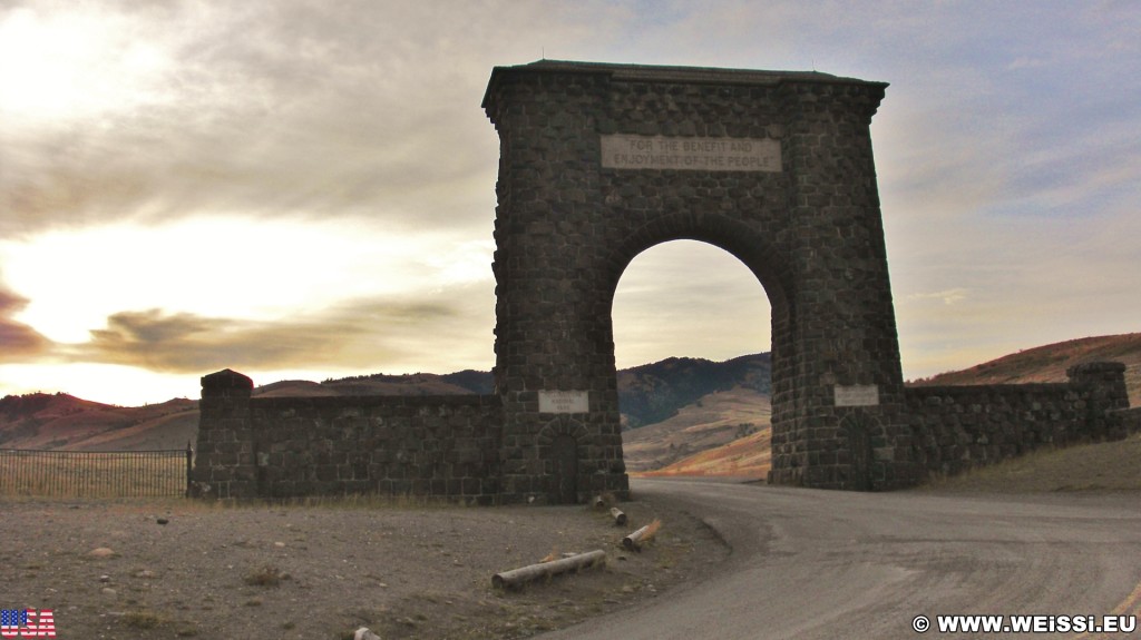
[[[1119,363],[1075,367],[1067,384],[904,388],[869,133],[885,88],[816,72],[496,67],[483,102],[500,137],[495,393],[256,399],[248,377],[219,371],[202,378],[194,486],[628,497],[614,292],[639,253],[677,239],[736,256],[768,295],[770,483],[893,489],[1141,428]]]

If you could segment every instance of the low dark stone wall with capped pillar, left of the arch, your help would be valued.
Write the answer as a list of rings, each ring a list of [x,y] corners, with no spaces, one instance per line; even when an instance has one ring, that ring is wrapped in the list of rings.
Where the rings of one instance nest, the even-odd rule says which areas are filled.
[[[500,493],[499,396],[251,399],[251,389],[228,370],[203,378],[200,493],[379,493],[478,504]]]

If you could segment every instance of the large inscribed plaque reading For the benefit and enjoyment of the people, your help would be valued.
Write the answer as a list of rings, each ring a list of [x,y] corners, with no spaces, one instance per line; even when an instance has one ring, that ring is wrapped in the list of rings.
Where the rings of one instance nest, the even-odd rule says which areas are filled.
[[[604,169],[780,171],[780,142],[771,138],[602,136]]]

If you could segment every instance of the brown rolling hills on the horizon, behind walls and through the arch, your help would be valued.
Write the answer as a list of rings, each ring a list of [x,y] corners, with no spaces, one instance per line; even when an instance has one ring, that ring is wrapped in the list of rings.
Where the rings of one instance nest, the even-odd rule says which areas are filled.
[[[1130,401],[1141,405],[1141,334],[1046,345],[909,385],[1063,381],[1079,362],[1126,364]],[[623,449],[631,473],[763,477],[769,465],[769,354],[726,362],[670,358],[618,371]],[[437,395],[491,393],[487,371],[357,376],[322,383],[284,380],[258,396]],[[0,400],[0,446],[24,449],[179,449],[197,430],[197,402],[121,408],[66,394]]]

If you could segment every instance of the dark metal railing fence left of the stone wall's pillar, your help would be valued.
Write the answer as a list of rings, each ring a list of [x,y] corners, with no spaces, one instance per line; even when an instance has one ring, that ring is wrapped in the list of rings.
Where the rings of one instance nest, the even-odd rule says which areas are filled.
[[[0,449],[0,495],[135,498],[189,495],[194,450]]]

